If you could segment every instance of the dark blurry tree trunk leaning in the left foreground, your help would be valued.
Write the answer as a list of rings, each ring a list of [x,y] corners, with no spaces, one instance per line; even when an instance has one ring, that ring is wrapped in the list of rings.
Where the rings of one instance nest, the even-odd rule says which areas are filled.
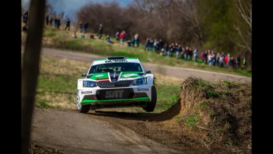
[[[29,153],[32,114],[39,74],[46,0],[31,0],[28,36],[22,68],[22,153]]]

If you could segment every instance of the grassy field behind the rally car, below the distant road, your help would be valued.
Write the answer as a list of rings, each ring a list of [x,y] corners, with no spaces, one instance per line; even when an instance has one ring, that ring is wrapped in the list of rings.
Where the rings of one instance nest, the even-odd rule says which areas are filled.
[[[36,107],[76,108],[77,80],[87,72],[89,62],[72,61],[42,54]],[[177,78],[157,76],[157,105],[154,112],[167,110],[177,102],[180,82]],[[103,110],[145,112],[141,107]]]

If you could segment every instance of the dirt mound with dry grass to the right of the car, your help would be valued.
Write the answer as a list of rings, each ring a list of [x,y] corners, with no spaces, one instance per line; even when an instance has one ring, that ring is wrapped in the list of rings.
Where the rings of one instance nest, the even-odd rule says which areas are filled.
[[[212,150],[251,153],[251,84],[188,77],[176,116]]]

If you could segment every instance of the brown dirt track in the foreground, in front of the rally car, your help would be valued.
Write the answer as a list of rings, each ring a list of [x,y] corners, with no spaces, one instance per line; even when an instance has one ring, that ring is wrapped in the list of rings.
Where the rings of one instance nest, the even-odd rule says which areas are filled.
[[[184,153],[85,114],[35,108],[32,139],[64,153]]]

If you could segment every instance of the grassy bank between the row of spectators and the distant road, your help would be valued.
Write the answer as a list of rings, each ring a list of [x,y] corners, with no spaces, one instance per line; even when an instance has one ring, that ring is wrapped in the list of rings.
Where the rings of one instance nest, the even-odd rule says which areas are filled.
[[[175,57],[160,56],[154,52],[144,51],[144,46],[140,45],[137,47],[127,47],[126,45],[120,45],[117,43],[107,43],[105,40],[90,39],[89,34],[86,34],[86,38],[81,38],[81,33],[78,32],[78,38],[72,38],[72,32],[64,30],[56,30],[53,28],[44,29],[44,41],[45,47],[52,47],[58,49],[68,49],[77,52],[87,52],[92,54],[98,54],[102,56],[119,56],[123,55],[125,57],[137,57],[143,62],[150,62],[156,64],[164,64],[170,66],[195,68],[201,70],[223,72],[230,74],[237,74],[242,76],[251,76],[251,70],[230,70],[226,68],[219,68],[215,66],[209,66],[201,64],[201,60],[196,63],[193,61],[185,61],[184,59],[176,59]],[[24,36],[23,36],[24,37]],[[24,43],[25,39],[22,39]],[[115,39],[112,39],[115,41]]]

